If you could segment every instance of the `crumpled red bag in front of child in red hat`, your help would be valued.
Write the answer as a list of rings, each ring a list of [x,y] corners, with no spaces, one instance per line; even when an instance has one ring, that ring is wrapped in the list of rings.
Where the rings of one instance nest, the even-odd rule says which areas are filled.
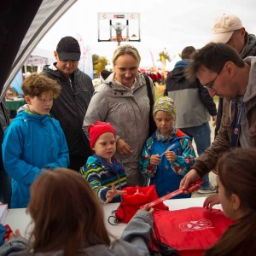
[[[122,190],[126,190],[127,193],[122,195],[123,201],[121,201],[115,212],[119,222],[128,223],[140,207],[159,198],[155,185],[148,187],[126,187]],[[164,203],[160,203],[154,209],[168,210],[169,208]]]

